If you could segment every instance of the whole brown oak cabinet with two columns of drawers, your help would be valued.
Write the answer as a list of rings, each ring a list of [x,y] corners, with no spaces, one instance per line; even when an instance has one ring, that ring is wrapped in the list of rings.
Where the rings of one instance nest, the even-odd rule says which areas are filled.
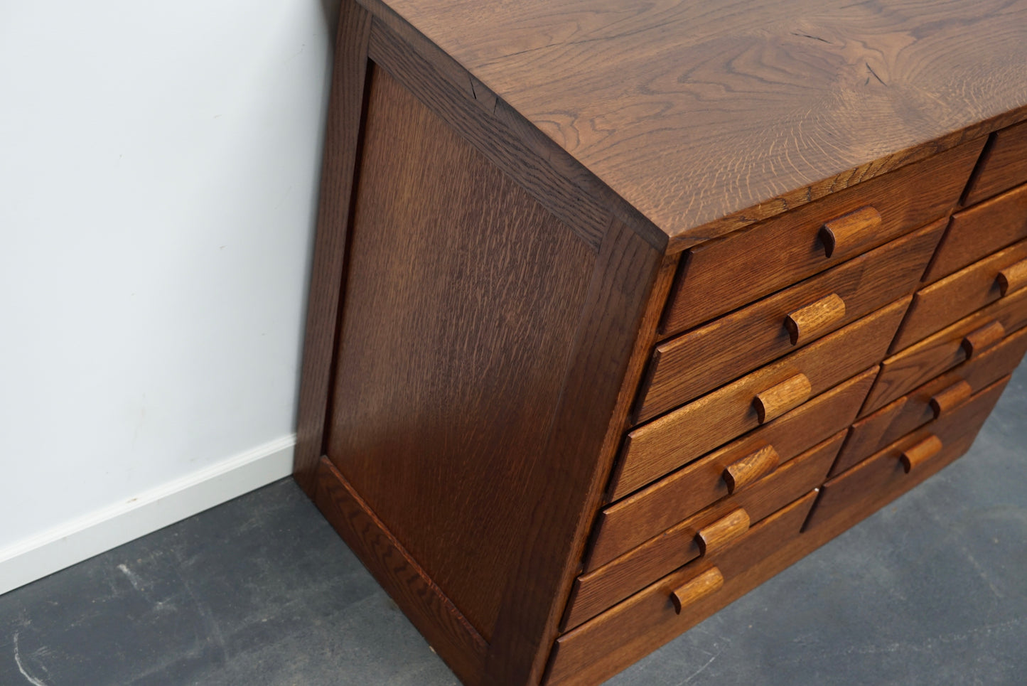
[[[298,483],[464,683],[612,676],[969,447],[1025,65],[997,0],[344,0]]]

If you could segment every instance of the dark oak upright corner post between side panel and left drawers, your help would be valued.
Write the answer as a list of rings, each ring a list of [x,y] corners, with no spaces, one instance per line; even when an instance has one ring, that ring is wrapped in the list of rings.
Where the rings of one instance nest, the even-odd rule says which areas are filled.
[[[505,589],[484,684],[541,680],[613,463],[614,436],[619,439],[625,428],[630,404],[623,385],[637,385],[638,342],[651,342],[655,333],[651,295],[665,294],[672,264],[633,229],[611,222],[594,265],[560,403],[547,426],[548,441],[541,453],[530,456],[534,459],[522,456],[521,471],[504,480],[521,493],[514,504],[530,507],[530,527]],[[534,347],[531,353],[538,356]],[[529,477],[534,488],[526,483]],[[515,514],[510,505],[497,507],[493,501],[486,506],[507,518]],[[510,540],[502,544],[508,546]],[[478,583],[477,573],[469,578]]]

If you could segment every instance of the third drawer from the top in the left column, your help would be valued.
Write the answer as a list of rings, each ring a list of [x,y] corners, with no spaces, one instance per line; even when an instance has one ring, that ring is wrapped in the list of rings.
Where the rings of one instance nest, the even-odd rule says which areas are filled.
[[[645,486],[877,364],[910,300],[906,297],[882,307],[632,430],[624,442],[620,486],[631,490]]]

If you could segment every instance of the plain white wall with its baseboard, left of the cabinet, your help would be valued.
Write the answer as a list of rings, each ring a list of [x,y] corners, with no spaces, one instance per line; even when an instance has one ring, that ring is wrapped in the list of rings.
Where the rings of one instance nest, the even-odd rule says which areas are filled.
[[[0,593],[289,472],[335,4],[0,0]]]

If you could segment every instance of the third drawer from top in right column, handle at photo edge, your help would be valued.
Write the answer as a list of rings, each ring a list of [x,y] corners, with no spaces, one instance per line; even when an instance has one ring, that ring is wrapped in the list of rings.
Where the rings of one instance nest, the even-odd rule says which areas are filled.
[[[1014,243],[913,296],[890,352],[941,331],[971,312],[1027,287],[1027,240]]]

